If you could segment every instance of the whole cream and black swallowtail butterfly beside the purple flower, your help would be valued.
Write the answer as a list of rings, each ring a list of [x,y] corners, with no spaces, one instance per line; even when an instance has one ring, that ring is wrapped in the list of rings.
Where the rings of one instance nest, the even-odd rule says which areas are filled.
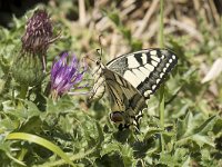
[[[120,130],[139,126],[145,100],[160,87],[176,65],[168,49],[147,49],[122,55],[104,66],[100,60],[93,71],[94,86],[90,100],[110,95],[110,119]]]

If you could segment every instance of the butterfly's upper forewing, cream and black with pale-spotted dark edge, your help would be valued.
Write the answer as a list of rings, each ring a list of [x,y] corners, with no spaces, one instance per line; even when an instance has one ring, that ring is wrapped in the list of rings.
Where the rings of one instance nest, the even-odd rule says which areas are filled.
[[[107,67],[122,76],[149,99],[176,65],[176,56],[168,49],[147,49],[120,56]]]

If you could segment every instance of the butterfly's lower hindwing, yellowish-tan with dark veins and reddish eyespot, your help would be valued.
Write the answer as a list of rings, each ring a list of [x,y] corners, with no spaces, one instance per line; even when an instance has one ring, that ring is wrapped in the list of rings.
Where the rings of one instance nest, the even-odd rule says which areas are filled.
[[[131,125],[138,127],[137,115],[147,107],[145,99],[117,72],[104,68],[103,77],[110,95],[111,120],[115,122],[119,129],[128,128]]]

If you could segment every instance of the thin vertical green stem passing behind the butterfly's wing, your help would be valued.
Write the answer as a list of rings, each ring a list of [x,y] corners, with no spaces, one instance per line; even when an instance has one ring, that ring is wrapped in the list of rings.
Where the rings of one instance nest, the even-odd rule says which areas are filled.
[[[163,48],[163,0],[160,0],[160,47]],[[159,104],[159,110],[160,110],[160,127],[161,129],[164,128],[164,85],[160,87],[160,104]],[[161,148],[164,150],[164,139],[161,135]]]

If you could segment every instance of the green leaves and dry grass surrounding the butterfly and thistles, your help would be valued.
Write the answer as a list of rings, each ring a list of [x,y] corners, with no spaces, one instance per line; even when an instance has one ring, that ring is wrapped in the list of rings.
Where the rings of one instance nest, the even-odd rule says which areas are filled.
[[[161,22],[160,0],[1,1],[0,166],[222,166],[222,3],[162,2]],[[20,98],[10,69],[36,9],[46,9],[61,31],[47,52],[48,72],[63,50],[79,58],[94,51],[97,59],[102,47],[103,62],[160,48],[161,40],[173,50],[179,63],[165,82],[164,128],[160,92],[148,101],[137,135],[109,120],[107,96],[91,106],[85,96],[69,95],[54,104],[43,95],[49,77],[39,92],[31,87]],[[89,71],[84,82],[92,86],[92,79]]]

